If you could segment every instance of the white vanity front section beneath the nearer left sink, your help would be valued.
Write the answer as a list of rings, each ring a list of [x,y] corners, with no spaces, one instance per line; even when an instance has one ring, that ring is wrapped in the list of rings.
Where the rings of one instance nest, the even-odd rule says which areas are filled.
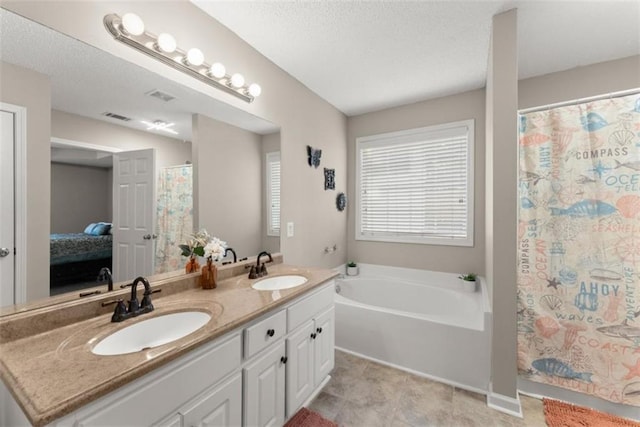
[[[205,419],[236,420],[238,425],[242,416],[242,389],[237,373],[241,354],[242,342],[236,332],[194,350],[53,425],[197,426]],[[236,375],[230,375],[234,371]],[[226,410],[230,413],[220,415]]]

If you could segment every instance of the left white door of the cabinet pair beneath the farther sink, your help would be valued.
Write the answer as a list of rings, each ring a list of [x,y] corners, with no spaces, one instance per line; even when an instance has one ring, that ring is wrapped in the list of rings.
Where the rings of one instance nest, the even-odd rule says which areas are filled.
[[[310,320],[287,338],[287,417],[302,406],[314,388],[314,333],[314,322]]]

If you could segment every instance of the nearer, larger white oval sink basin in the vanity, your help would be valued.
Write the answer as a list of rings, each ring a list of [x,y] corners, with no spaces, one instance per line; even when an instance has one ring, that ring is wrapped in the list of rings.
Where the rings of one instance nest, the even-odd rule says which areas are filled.
[[[135,353],[185,337],[211,320],[202,311],[182,311],[142,320],[101,340],[91,352],[100,356]]]

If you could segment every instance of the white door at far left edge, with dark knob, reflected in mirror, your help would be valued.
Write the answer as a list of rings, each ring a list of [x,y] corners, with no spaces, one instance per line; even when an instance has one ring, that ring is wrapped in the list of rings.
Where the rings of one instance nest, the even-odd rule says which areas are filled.
[[[0,307],[15,303],[14,123],[0,111]]]

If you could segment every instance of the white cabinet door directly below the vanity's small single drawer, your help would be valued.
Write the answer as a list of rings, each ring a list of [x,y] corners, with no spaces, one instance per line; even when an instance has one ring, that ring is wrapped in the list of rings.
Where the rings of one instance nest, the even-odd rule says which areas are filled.
[[[244,425],[284,424],[284,341],[244,368]]]

